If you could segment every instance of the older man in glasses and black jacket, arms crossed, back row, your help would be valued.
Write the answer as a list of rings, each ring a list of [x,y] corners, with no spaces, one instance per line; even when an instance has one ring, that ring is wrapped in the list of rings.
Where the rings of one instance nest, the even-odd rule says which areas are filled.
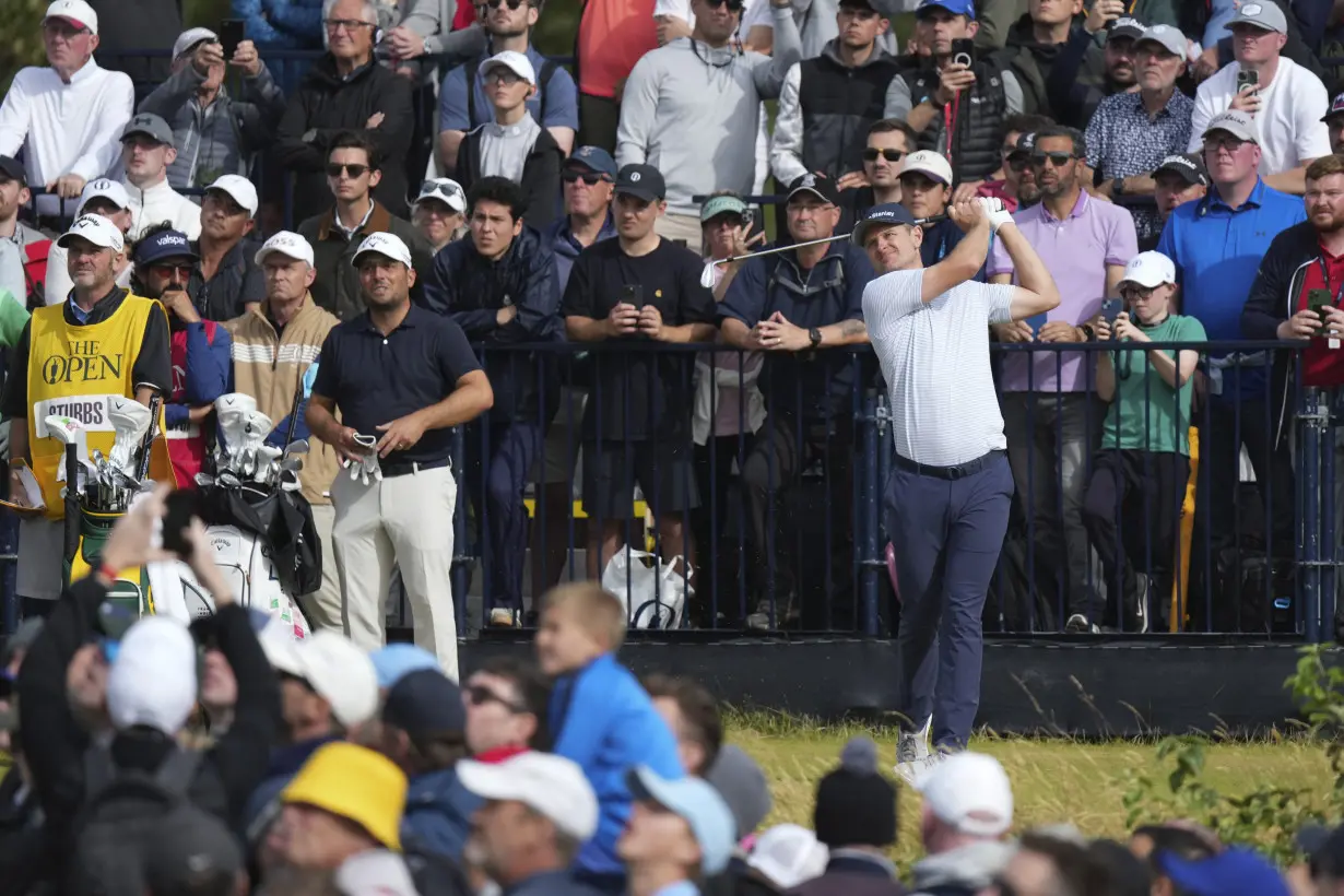
[[[276,153],[297,175],[294,219],[327,206],[323,169],[336,136],[368,132],[387,160],[378,199],[394,215],[406,215],[403,161],[414,130],[411,85],[374,59],[374,4],[339,0],[327,13],[328,52],[309,70],[280,121]]]

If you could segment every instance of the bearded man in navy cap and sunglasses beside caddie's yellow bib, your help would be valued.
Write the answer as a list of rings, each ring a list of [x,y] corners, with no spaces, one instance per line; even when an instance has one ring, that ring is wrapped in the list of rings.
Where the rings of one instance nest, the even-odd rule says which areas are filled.
[[[187,281],[200,257],[185,234],[171,224],[152,227],[136,243],[134,257],[132,289],[157,298],[168,312],[172,395],[164,404],[164,437],[177,485],[192,488],[210,447],[207,424],[215,399],[228,391],[228,330],[200,320],[187,294]]]

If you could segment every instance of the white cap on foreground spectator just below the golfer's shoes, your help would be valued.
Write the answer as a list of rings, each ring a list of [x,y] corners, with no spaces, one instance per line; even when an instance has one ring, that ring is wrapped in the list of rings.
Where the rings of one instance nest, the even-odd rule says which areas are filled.
[[[938,821],[962,834],[999,837],[1012,827],[1012,786],[993,756],[953,754],[915,789]]]

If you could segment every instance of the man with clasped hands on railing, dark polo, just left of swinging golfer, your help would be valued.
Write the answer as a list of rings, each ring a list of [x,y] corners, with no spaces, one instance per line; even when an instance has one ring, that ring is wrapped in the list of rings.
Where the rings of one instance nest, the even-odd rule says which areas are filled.
[[[789,184],[785,215],[793,242],[835,234],[839,204],[835,184],[821,175],[802,175]],[[851,531],[849,403],[855,359],[817,349],[868,341],[863,287],[870,279],[872,265],[863,250],[848,239],[837,239],[749,261],[719,305],[719,325],[728,343],[749,352],[767,352],[761,372],[767,416],[742,465],[742,482],[751,543],[747,568],[759,576],[775,568],[775,580],[755,582],[759,603],[747,617],[753,629],[782,627],[801,617],[804,607],[797,598],[802,570],[790,568],[785,560],[794,548],[781,535],[781,510],[771,505],[813,457],[825,458],[832,482],[829,494],[836,509],[831,531],[841,539]],[[814,562],[814,566],[827,564]],[[848,568],[848,563],[831,566],[832,575]],[[824,607],[806,609],[805,625],[828,622],[812,613],[824,613]]]

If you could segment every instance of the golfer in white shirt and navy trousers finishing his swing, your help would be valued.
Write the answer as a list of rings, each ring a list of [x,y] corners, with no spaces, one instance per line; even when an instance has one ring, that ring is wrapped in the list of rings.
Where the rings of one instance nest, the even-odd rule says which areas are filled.
[[[966,235],[927,269],[923,231],[903,206],[872,208],[853,231],[878,271],[863,293],[863,317],[891,390],[896,457],[886,527],[902,599],[896,709],[905,716],[896,774],[910,783],[945,751],[965,748],[980,704],[980,611],[1013,490],[989,324],[1059,305],[1050,271],[1003,203],[973,199],[949,212]],[[991,231],[1020,286],[970,279],[985,263]]]

